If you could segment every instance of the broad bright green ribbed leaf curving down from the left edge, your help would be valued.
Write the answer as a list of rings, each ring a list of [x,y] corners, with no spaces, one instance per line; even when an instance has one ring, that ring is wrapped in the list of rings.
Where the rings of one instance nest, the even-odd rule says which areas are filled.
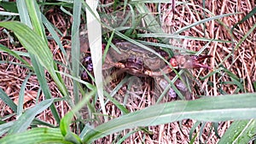
[[[36,32],[33,32],[28,26],[18,21],[6,21],[0,22],[0,26],[3,26],[9,30],[15,32],[16,37],[20,40],[20,43],[33,55],[35,55],[40,64],[44,66],[51,77],[55,80],[55,84],[61,90],[63,95],[68,95],[67,88],[63,84],[61,78],[55,73],[55,63],[53,61],[53,55],[48,48],[47,43],[44,43],[42,37],[38,36]]]

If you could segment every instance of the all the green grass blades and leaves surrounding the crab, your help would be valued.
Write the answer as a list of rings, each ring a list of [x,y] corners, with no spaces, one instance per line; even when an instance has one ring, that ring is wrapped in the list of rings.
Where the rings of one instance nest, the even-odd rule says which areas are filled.
[[[160,1],[152,1],[151,3],[160,3]],[[122,37],[126,41],[135,43],[143,49],[147,49],[149,51],[152,51],[153,53],[155,53],[154,50],[143,45],[143,43],[139,43],[139,41],[136,41],[134,40],[134,38],[131,37],[137,37],[138,39],[146,37],[157,37],[158,39],[160,39],[161,42],[164,42],[166,37],[171,37],[174,39],[193,39],[195,41],[207,41],[208,43],[230,43],[230,41],[224,41],[214,38],[209,39],[205,37],[184,37],[181,35],[181,33],[183,33],[184,31],[188,31],[194,26],[204,24],[207,21],[218,21],[218,19],[222,17],[230,16],[233,14],[212,15],[209,18],[193,23],[192,25],[183,26],[181,29],[177,30],[172,34],[166,34],[162,32],[160,22],[154,17],[153,14],[150,14],[145,3],[126,3],[131,10],[125,11],[124,9],[124,11],[121,12],[127,12],[131,14],[131,20],[124,19],[120,26],[111,26],[110,24],[106,24],[101,21],[98,15],[102,16],[104,14],[97,14],[96,8],[92,8],[90,5],[91,3],[81,3],[79,1],[75,1],[74,3],[65,1],[55,3],[58,6],[70,10],[69,12],[73,14],[73,24],[71,29],[73,43],[71,52],[72,67],[68,67],[71,74],[67,74],[59,72],[57,70],[57,63],[53,59],[53,54],[49,50],[49,46],[47,43],[44,26],[49,31],[49,33],[52,34],[55,42],[62,49],[63,55],[66,55],[63,51],[63,46],[60,43],[60,38],[57,37],[57,34],[55,32],[55,26],[50,25],[49,21],[44,17],[44,10],[43,12],[41,11],[42,9],[44,9],[44,7],[47,8],[48,4],[50,5],[50,3],[40,3],[41,5],[38,5],[38,3],[35,3],[34,0],[31,0],[17,1],[17,3],[12,4],[17,4],[17,6],[26,6],[26,9],[24,7],[21,7],[19,9],[18,7],[18,14],[20,14],[20,19],[17,19],[17,14],[15,13],[15,11],[10,11],[14,12],[15,14],[9,13],[13,16],[15,20],[20,21],[9,20],[7,17],[3,17],[6,18],[6,21],[3,20],[2,22],[0,22],[0,26],[8,29],[10,32],[15,33],[15,37],[17,37],[22,46],[26,48],[26,55],[30,60],[32,60],[32,65],[28,64],[26,60],[23,60],[21,54],[17,51],[9,50],[3,45],[1,45],[0,50],[20,60],[22,62],[20,66],[24,66],[28,68],[30,72],[32,72],[27,74],[27,78],[29,78],[31,74],[35,74],[37,76],[38,83],[40,84],[40,88],[44,93],[45,100],[36,103],[34,107],[28,108],[26,110],[23,109],[22,98],[24,97],[24,89],[26,86],[27,78],[23,82],[22,87],[20,88],[20,101],[17,105],[9,98],[9,95],[6,95],[3,89],[0,89],[1,100],[5,104],[7,104],[17,115],[16,120],[9,122],[2,121],[3,124],[0,125],[0,134],[5,134],[5,136],[3,136],[3,138],[0,140],[0,143],[90,143],[92,141],[96,141],[99,138],[102,138],[103,136],[111,135],[122,130],[141,130],[143,129],[143,127],[173,123],[187,118],[195,119],[201,123],[212,122],[215,124],[221,121],[234,120],[234,123],[231,125],[230,129],[226,131],[222,138],[220,138],[219,143],[248,143],[249,141],[255,139],[256,124],[253,118],[256,118],[256,93],[245,93],[246,89],[243,87],[243,82],[241,81],[241,79],[238,78],[234,73],[230,72],[230,70],[222,66],[223,61],[221,61],[219,63],[219,66],[213,69],[213,71],[210,72],[207,76],[201,78],[201,80],[212,77],[212,75],[215,74],[223,74],[222,72],[224,72],[225,76],[229,77],[231,81],[222,83],[237,86],[236,94],[219,96],[216,95],[214,97],[210,97],[205,94],[204,96],[206,97],[199,100],[166,102],[146,107],[143,110],[130,113],[129,110],[122,105],[122,103],[115,100],[113,97],[113,95],[118,91],[119,88],[113,90],[111,94],[106,93],[105,95],[103,95],[104,93],[102,89],[103,85],[101,68],[102,35],[105,37],[107,35],[107,32],[110,32],[110,34],[113,32],[116,37]],[[93,64],[94,66],[100,66],[99,68],[95,69],[95,75],[97,76],[95,78],[96,86],[86,84],[90,85],[90,93],[87,91],[84,92],[84,89],[82,89],[80,86],[80,83],[84,82],[81,82],[81,80],[79,79],[79,26],[81,23],[80,14],[84,13],[84,8],[86,8],[87,13],[86,21],[93,24],[92,27],[88,26],[88,35],[91,47],[90,51]],[[134,12],[135,9],[138,10],[138,14]],[[255,9],[253,11],[253,14],[255,14]],[[111,17],[112,15],[105,16],[106,19],[113,19],[113,17]],[[136,33],[136,29],[132,29],[135,27],[139,27],[137,26],[137,20],[140,18],[143,18],[145,20],[146,26],[148,26],[144,27],[144,29],[151,33]],[[125,26],[125,23],[131,23],[132,27]],[[221,22],[220,24],[224,25]],[[105,31],[103,32],[96,33],[96,29],[101,29],[101,27],[96,28],[94,26],[104,26],[106,27],[106,29],[104,29]],[[244,35],[243,39],[241,39],[239,43],[245,41],[245,38],[251,32],[253,32],[253,30],[255,30],[255,26],[256,25],[251,27],[250,31],[247,32],[246,35]],[[122,32],[120,30],[122,30]],[[126,32],[126,35],[123,32]],[[156,43],[151,44],[154,45]],[[239,44],[237,45],[239,46]],[[167,45],[165,43],[162,43],[161,46],[169,50],[175,48],[185,53],[196,53],[194,51],[188,52],[187,49],[185,50],[182,48],[177,48],[176,46]],[[234,50],[236,50],[237,47]],[[202,53],[202,51],[200,51],[200,53]],[[155,54],[159,55],[157,53]],[[228,56],[230,57],[231,55]],[[224,60],[228,59],[228,56]],[[58,90],[63,96],[62,98],[53,98],[53,96],[51,95],[47,80],[44,75],[44,70],[49,72],[50,77],[53,78]],[[64,83],[64,80],[62,79],[63,77],[61,77],[61,75],[63,77],[65,76],[73,79],[73,95],[68,92],[67,85]],[[176,79],[177,78],[179,77],[176,77]],[[173,80],[171,82],[173,82]],[[209,85],[211,86],[211,83],[209,83]],[[170,84],[169,86],[175,87],[174,84]],[[217,90],[220,94],[227,93],[223,89]],[[239,92],[242,92],[243,94],[238,95],[237,93]],[[80,99],[79,93],[83,95],[82,99]],[[179,92],[177,91],[177,93]],[[94,98],[97,96],[100,100],[100,107],[102,109],[102,113],[100,113],[99,110],[96,110],[94,102],[90,102],[90,98]],[[71,97],[73,97],[74,101],[71,100]],[[67,112],[64,118],[60,118],[59,112],[57,112],[57,107],[54,104],[56,101],[66,101],[69,106],[72,107],[70,112]],[[105,109],[106,101],[112,101],[113,104],[125,114],[120,118],[113,118],[112,120],[108,121],[108,115]],[[98,120],[103,115],[103,123],[99,124],[95,128],[93,127],[93,123],[87,123],[86,120],[84,123],[84,119],[81,119],[81,113],[79,113],[79,110],[84,106],[88,107],[90,118],[95,118],[96,120]],[[50,109],[57,125],[52,125],[36,118],[38,113],[43,112],[47,108]],[[75,118],[77,118],[76,121],[73,121],[74,116]],[[99,116],[99,118],[97,118],[97,116]],[[89,121],[90,119],[88,119],[88,122]],[[76,130],[70,129],[70,124],[76,125]],[[39,125],[44,125],[46,127],[40,128],[38,127]],[[28,130],[28,128],[31,129]],[[236,131],[235,134],[234,131]],[[191,134],[192,133],[193,131],[191,131]],[[192,138],[192,136],[190,137],[191,143],[193,143],[194,139]],[[122,141],[124,140],[122,139]]]

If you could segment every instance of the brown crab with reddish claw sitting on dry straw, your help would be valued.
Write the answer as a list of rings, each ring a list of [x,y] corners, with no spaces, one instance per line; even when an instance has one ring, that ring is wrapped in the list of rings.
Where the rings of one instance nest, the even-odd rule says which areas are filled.
[[[157,54],[168,61],[170,63],[170,65],[168,65],[159,55],[155,55],[153,52],[138,47],[136,44],[129,42],[114,42],[113,44],[117,49],[110,48],[108,50],[108,55],[103,64],[103,70],[116,67],[122,72],[127,72],[138,77],[156,78],[162,89],[165,89],[164,87],[166,87],[167,84],[163,75],[168,75],[173,72],[173,68],[211,69],[210,66],[201,64],[201,60],[210,58],[212,57],[211,55],[174,55],[172,58],[169,58],[166,51],[150,47],[150,49],[153,49]],[[85,58],[84,60],[90,61],[89,58]],[[90,67],[90,72],[92,72],[91,64],[88,66]],[[182,85],[180,82],[176,84]],[[177,86],[177,88],[182,91],[187,90],[184,85]],[[169,94],[171,93],[172,97],[175,97],[172,89],[169,90]]]

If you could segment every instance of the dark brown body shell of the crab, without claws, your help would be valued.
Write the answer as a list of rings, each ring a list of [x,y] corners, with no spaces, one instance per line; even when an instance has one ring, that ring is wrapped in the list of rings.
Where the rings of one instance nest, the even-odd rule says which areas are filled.
[[[110,68],[114,66],[138,77],[160,76],[162,75],[160,69],[165,73],[172,72],[172,68],[167,66],[164,60],[146,49],[128,42],[118,42],[114,43],[114,45],[118,49],[111,48],[108,50],[106,58],[108,66],[103,66],[103,69],[104,67]],[[159,49],[154,50],[166,60],[169,57],[166,51]],[[172,66],[177,66],[177,61],[175,59],[170,59],[170,63]]]

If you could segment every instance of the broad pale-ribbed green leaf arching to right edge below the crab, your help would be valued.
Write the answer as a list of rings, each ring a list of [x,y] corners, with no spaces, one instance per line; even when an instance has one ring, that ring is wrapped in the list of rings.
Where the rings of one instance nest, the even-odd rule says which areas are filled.
[[[191,118],[205,122],[256,118],[256,93],[220,95],[195,101],[172,101],[114,118],[90,130],[84,142],[95,141],[120,130],[172,123]]]

